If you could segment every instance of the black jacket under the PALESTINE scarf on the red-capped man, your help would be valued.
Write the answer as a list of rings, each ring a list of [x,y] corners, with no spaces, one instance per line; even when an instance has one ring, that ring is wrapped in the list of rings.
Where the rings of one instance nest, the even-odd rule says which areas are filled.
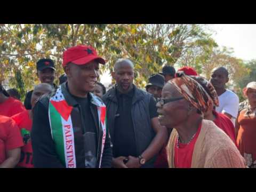
[[[83,116],[81,115],[81,107],[76,102],[76,100],[70,95],[67,90],[67,83],[61,85],[62,93],[68,103],[69,106],[73,106],[73,110],[71,112],[72,115],[75,116],[76,124],[79,124],[75,127],[74,137],[75,137],[75,146],[79,146],[77,154],[83,154],[83,137],[81,137],[81,133],[83,130],[84,121]],[[102,145],[102,135],[103,131],[101,126],[99,126],[99,117],[97,106],[92,103],[91,93],[89,93],[89,100],[91,113],[94,118],[95,125],[97,127],[97,136],[98,136],[98,146],[97,146],[97,166],[99,166],[101,145]],[[33,147],[33,161],[35,167],[64,167],[55,151],[55,144],[51,135],[51,127],[49,123],[48,109],[49,109],[49,100],[51,95],[47,95],[47,97],[41,98],[35,108],[33,115],[33,127],[31,131],[31,142]],[[73,113],[73,114],[72,114]],[[77,123],[79,122],[79,123]],[[81,144],[80,144],[81,143]],[[77,151],[77,148],[76,148]],[[76,156],[77,156],[76,154]],[[108,130],[106,130],[106,141],[105,147],[103,149],[102,154],[102,162],[101,167],[111,167],[111,160],[113,158],[111,142],[109,138]],[[79,157],[76,159],[77,167],[84,167],[84,161],[78,161]],[[81,159],[81,158],[80,158]]]

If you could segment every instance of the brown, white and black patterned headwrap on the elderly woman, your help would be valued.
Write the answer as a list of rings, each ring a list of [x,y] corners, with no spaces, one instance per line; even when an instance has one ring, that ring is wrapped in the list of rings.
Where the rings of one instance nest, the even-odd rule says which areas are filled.
[[[196,78],[196,76],[194,78]],[[172,79],[168,83],[174,85],[186,100],[188,100],[195,108],[197,108],[199,111],[202,111],[203,113],[213,105],[218,106],[218,96],[217,99],[215,96],[211,97],[203,88],[203,86],[199,84],[194,78],[185,75],[183,71],[178,71],[177,78]],[[207,84],[207,82],[205,83]],[[212,85],[208,84],[207,86],[210,87]],[[214,94],[214,91],[214,88],[210,88],[212,96],[215,94],[217,95],[216,92]]]

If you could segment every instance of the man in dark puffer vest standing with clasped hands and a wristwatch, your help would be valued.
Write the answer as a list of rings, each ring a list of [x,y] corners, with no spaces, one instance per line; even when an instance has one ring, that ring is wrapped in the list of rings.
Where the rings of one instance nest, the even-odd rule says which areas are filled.
[[[155,156],[167,139],[166,128],[158,122],[156,101],[150,93],[133,84],[133,63],[115,63],[116,85],[104,96],[107,129],[113,143],[113,167],[154,167]]]

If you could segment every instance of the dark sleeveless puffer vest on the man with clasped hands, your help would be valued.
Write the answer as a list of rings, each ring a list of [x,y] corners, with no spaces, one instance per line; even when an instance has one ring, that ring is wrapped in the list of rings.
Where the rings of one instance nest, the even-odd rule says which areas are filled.
[[[155,137],[155,131],[151,125],[149,115],[149,102],[153,97],[148,92],[138,89],[134,85],[134,95],[132,98],[132,121],[135,133],[135,144],[137,148],[137,156],[141,155],[150,145]],[[116,88],[110,89],[104,96],[103,101],[107,106],[107,129],[110,137],[114,138],[115,129],[115,115],[117,113],[118,101],[116,97]],[[154,167],[156,157],[151,158],[142,167]]]

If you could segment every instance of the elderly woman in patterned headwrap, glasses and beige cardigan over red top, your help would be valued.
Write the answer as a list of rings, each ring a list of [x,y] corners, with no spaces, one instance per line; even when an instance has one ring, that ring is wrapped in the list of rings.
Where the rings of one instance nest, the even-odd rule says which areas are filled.
[[[159,122],[173,127],[167,146],[169,167],[246,167],[230,138],[203,113],[213,100],[193,78],[179,73],[157,103]]]

